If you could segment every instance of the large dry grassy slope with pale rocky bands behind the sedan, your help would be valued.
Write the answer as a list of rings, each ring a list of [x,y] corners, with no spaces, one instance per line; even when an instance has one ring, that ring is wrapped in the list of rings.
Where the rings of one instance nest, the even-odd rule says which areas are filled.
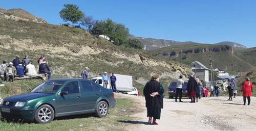
[[[86,30],[30,21],[11,21],[0,17],[0,60],[8,62],[19,55],[29,55],[36,67],[45,54],[54,78],[78,77],[88,66],[90,77],[115,72],[134,76],[134,86],[142,90],[151,74],[159,73],[167,88],[180,74],[192,73],[178,62],[156,59],[146,51],[115,46],[92,36]]]

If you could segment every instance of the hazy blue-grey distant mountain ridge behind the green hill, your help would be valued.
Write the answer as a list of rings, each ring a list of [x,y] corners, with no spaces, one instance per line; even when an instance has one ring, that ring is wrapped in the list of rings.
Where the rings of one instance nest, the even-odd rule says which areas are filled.
[[[144,38],[144,37],[136,37],[136,36],[131,36],[133,38],[139,39],[142,47],[144,50],[154,50],[162,47],[167,47],[167,46],[173,46],[173,45],[182,45],[182,44],[205,44],[205,43],[198,43],[198,42],[193,42],[193,41],[174,41],[174,40],[164,40],[164,39],[154,39],[154,38]],[[230,41],[223,41],[219,43],[214,43],[217,45],[229,45],[233,49],[246,49],[247,47],[235,43],[235,42],[230,42]]]

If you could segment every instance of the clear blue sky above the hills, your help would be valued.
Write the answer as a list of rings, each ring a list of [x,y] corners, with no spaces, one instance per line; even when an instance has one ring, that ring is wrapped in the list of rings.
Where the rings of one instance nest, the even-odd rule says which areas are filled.
[[[59,11],[64,4],[76,4],[84,14],[96,19],[123,23],[139,37],[256,46],[256,1],[0,0],[0,8],[22,8],[52,24],[63,23]]]

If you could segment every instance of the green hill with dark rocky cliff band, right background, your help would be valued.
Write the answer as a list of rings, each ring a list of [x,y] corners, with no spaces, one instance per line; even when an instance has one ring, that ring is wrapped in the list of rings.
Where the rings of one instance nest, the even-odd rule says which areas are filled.
[[[247,50],[247,49],[246,49]],[[253,68],[253,61],[246,61],[243,55],[246,50],[237,51],[228,45],[215,44],[185,44],[175,45],[153,50],[153,54],[164,56],[170,60],[180,61],[184,64],[190,64],[192,61],[200,61],[205,66],[209,66],[209,57],[214,60],[214,68],[222,68],[228,72],[236,74],[241,66],[243,70]],[[248,58],[253,58],[252,56]]]

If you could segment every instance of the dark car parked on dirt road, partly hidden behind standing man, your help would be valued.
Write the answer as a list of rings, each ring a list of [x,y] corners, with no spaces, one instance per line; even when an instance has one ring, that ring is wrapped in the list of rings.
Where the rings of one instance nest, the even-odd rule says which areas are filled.
[[[177,82],[171,82],[168,88],[169,98],[174,98],[176,93]],[[187,96],[187,82],[182,86],[182,96]]]

